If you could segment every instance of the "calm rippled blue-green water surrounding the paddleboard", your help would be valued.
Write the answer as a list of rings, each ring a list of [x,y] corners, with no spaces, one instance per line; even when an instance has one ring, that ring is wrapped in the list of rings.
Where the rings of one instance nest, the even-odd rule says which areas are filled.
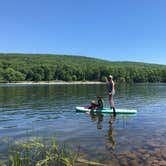
[[[105,165],[166,165],[166,84],[116,86],[116,107],[137,109],[135,115],[113,119],[75,112],[97,95],[109,107],[104,84],[1,84],[0,154],[7,151],[6,138],[56,134],[59,142],[80,146],[83,158]]]

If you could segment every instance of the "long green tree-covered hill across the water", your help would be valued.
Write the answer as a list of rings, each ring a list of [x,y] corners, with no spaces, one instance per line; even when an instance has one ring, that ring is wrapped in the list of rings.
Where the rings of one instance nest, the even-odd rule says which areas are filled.
[[[104,81],[166,82],[166,65],[111,62],[84,56],[0,54],[0,82]]]

